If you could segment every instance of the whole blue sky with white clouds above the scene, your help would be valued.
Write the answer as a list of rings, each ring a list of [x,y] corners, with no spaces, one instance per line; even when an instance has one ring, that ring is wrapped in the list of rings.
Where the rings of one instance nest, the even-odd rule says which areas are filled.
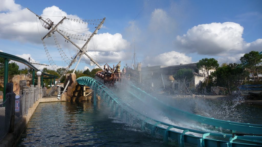
[[[50,65],[51,62],[41,40],[49,30],[42,27],[34,13],[54,24],[62,16],[99,21],[105,17],[87,47],[87,53],[102,66],[121,61],[122,67],[126,64],[132,67],[134,50],[135,63],[141,62],[142,67],[196,63],[203,58],[215,58],[219,64],[240,63],[245,53],[262,51],[261,0],[0,0],[0,3],[0,51],[26,60],[30,57],[32,63]],[[89,35],[94,27],[67,19],[58,29]],[[80,47],[85,43],[72,41]],[[56,66],[35,65],[40,70],[67,67],[78,52],[57,32],[44,42]],[[66,61],[60,55],[62,52]],[[20,69],[26,67],[18,65]],[[77,66],[77,70],[94,68],[86,55]]]

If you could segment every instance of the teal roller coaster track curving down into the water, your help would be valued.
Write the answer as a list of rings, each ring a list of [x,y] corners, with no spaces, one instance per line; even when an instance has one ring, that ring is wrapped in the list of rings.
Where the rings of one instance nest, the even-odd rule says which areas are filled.
[[[259,133],[262,132],[262,125],[249,124],[249,123],[238,123],[231,121],[217,120],[214,118],[203,117],[200,115],[190,114],[171,106],[165,105],[162,101],[152,97],[141,89],[134,85],[129,85],[129,94],[137,97],[139,100],[147,100],[146,102],[150,105],[150,101],[158,102],[161,107],[166,107],[168,111],[181,113],[194,121],[205,123],[208,125],[221,127],[237,131],[237,134],[226,134],[226,133],[214,133],[208,131],[201,131],[197,129],[179,127],[171,125],[159,120],[150,118],[144,114],[141,114],[129,104],[125,103],[122,99],[110,90],[108,87],[96,81],[91,77],[80,77],[77,79],[80,85],[90,86],[94,91],[93,100],[94,107],[96,107],[97,95],[101,97],[101,101],[104,105],[111,108],[111,114],[115,118],[124,120],[127,123],[133,123],[134,126],[140,127],[142,131],[150,132],[151,135],[160,135],[165,143],[168,143],[169,139],[176,140],[178,145],[183,147],[185,143],[197,145],[198,147],[230,147],[230,146],[262,146],[262,136]],[[192,135],[192,134],[200,135]],[[252,134],[246,134],[252,133]]]

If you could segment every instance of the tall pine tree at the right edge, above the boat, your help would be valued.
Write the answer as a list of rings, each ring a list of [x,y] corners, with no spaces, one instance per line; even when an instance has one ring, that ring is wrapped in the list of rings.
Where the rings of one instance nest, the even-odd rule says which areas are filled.
[[[260,72],[258,72],[258,69],[261,66],[258,66],[258,65],[259,65],[259,63],[262,62],[261,59],[262,59],[262,54],[259,54],[256,51],[251,51],[247,54],[244,54],[244,56],[240,58],[242,65],[250,70],[254,80],[256,80],[255,75],[254,75],[255,73],[256,73],[256,76],[257,76],[257,80],[259,80],[258,74]]]

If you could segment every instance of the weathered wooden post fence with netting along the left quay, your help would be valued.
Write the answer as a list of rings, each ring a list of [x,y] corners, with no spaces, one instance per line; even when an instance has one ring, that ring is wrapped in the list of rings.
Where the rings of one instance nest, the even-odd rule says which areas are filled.
[[[25,86],[26,80],[20,81],[19,95],[13,93],[13,83],[7,83],[6,100],[0,105],[0,140],[7,133],[14,131],[14,126],[28,115],[28,110],[41,97],[41,93],[37,86]],[[41,88],[40,88],[41,89]]]

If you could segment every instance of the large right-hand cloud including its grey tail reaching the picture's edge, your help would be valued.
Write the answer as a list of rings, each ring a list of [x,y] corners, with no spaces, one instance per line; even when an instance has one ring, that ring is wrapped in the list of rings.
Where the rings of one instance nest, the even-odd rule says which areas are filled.
[[[177,36],[174,46],[183,53],[217,56],[219,63],[240,63],[240,57],[250,51],[261,52],[262,39],[245,42],[244,28],[234,22],[201,24],[183,36]]]

